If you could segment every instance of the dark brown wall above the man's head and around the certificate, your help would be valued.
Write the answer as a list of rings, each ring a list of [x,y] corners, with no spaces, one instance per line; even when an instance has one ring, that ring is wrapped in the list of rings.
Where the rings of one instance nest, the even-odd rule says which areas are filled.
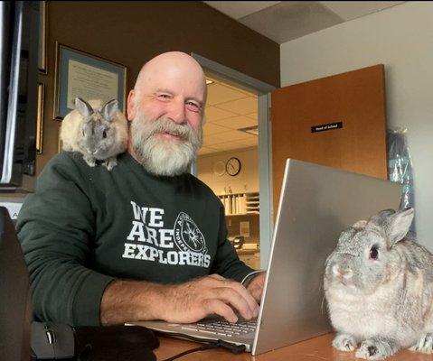
[[[48,74],[43,153],[36,171],[58,149],[59,122],[52,120],[55,42],[127,66],[127,89],[139,69],[164,51],[197,53],[255,79],[279,85],[279,46],[202,2],[48,2]],[[259,54],[259,56],[257,56]]]

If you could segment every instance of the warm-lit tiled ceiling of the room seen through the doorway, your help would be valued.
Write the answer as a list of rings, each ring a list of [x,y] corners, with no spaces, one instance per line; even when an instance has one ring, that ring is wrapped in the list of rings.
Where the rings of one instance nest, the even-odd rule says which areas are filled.
[[[257,146],[257,135],[238,130],[258,125],[257,96],[221,80],[206,78],[213,83],[208,85],[206,123],[199,155]]]

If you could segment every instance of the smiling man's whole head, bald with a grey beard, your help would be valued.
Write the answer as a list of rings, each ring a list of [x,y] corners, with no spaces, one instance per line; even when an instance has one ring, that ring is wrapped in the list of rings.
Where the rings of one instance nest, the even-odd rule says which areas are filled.
[[[127,97],[128,152],[147,171],[182,174],[202,145],[206,80],[200,64],[165,52],[140,70]]]

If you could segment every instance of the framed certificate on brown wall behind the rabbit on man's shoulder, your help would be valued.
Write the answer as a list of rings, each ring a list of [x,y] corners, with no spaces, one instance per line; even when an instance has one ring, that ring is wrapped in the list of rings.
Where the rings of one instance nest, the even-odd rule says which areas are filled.
[[[75,97],[118,99],[125,112],[127,67],[56,42],[53,118],[61,120],[75,108]]]

